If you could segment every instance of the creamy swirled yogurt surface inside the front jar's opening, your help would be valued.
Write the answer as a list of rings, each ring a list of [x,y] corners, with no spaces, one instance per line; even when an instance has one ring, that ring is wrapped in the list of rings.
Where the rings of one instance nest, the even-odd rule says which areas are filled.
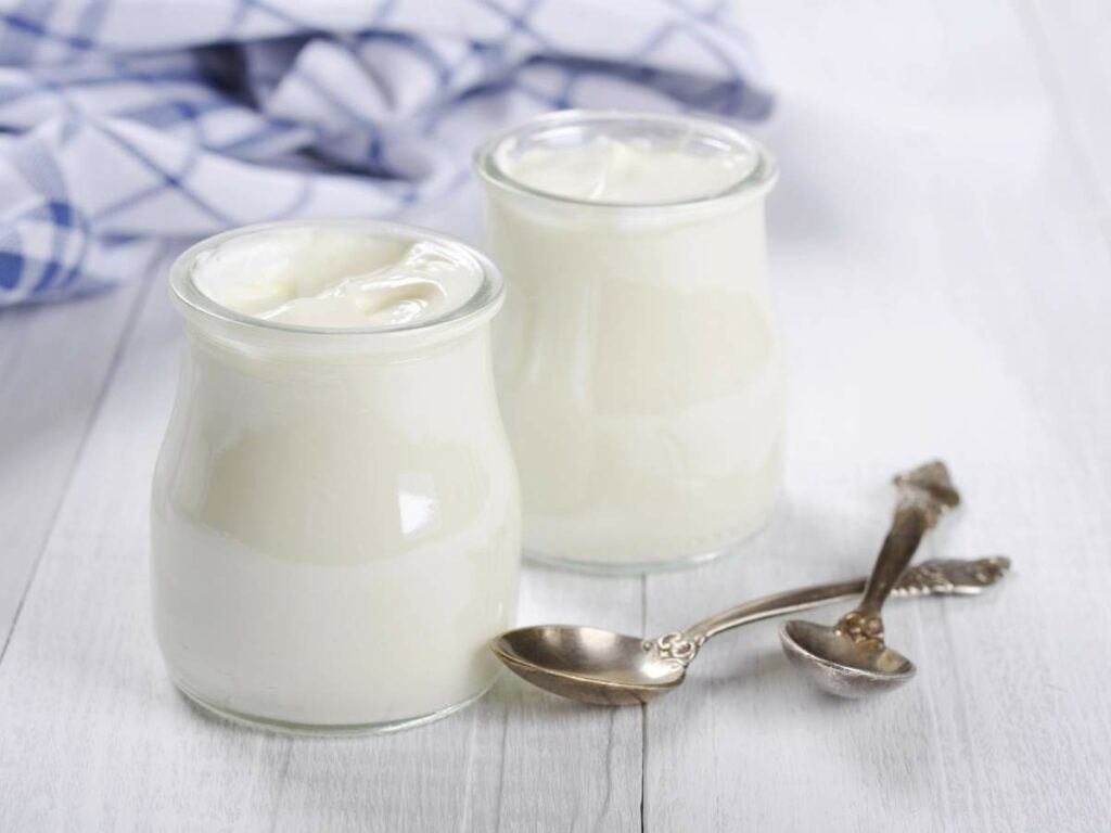
[[[202,252],[197,288],[221,307],[297,327],[432,323],[464,305],[481,268],[458,247],[326,228],[259,231]]]

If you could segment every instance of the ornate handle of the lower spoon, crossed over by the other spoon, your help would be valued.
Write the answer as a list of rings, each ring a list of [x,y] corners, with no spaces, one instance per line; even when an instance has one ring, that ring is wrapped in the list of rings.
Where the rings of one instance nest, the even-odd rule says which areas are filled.
[[[1003,578],[1010,565],[1011,562],[1000,555],[971,561],[957,559],[927,561],[910,568],[899,576],[892,595],[973,595],[982,593],[984,588]],[[701,646],[711,636],[717,636],[719,633],[731,631],[750,622],[759,622],[763,619],[772,619],[785,613],[795,613],[858,596],[863,592],[864,584],[864,579],[857,579],[754,599],[703,619],[698,624],[685,629],[682,635],[697,646]]]

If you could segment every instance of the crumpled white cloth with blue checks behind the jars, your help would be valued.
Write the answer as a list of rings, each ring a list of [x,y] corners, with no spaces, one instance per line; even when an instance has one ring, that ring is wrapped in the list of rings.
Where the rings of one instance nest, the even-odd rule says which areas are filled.
[[[0,305],[151,241],[390,217],[492,130],[567,107],[759,119],[711,0],[22,0],[0,9]],[[134,269],[138,269],[136,267]],[[134,271],[134,270],[132,270]]]

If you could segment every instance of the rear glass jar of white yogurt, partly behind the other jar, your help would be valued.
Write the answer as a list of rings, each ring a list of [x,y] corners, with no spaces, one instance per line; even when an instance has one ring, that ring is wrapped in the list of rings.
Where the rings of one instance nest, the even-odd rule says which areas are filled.
[[[769,152],[711,119],[564,111],[482,147],[494,332],[526,554],[678,566],[769,521],[783,351]]]

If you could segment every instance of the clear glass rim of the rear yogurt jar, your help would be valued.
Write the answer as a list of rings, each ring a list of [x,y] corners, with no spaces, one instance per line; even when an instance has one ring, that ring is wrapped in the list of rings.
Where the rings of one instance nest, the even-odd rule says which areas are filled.
[[[718,191],[677,200],[652,200],[645,202],[618,202],[565,197],[533,188],[514,178],[498,162],[498,154],[509,142],[519,142],[544,133],[598,124],[635,124],[655,128],[682,128],[698,132],[702,137],[724,141],[751,154],[753,164],[735,182]],[[682,209],[707,205],[738,197],[762,197],[771,190],[779,178],[779,167],[771,151],[761,142],[740,130],[734,124],[711,116],[685,113],[659,113],[641,110],[556,110],[542,113],[488,139],[474,151],[472,168],[486,183],[508,191],[534,197],[553,203],[570,204],[584,209],[644,211],[652,209]]]

